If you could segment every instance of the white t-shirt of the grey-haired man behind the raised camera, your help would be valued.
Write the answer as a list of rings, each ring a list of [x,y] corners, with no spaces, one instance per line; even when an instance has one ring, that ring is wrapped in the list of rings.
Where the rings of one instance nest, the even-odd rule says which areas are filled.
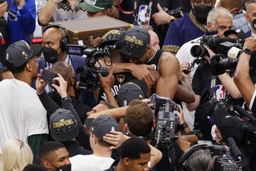
[[[191,65],[193,60],[196,59],[191,55],[191,48],[193,45],[200,45],[201,38],[202,37],[196,38],[181,46],[181,48],[176,53],[176,57],[178,58],[178,62],[180,62],[180,64],[181,62],[188,62]],[[194,67],[191,69],[191,72],[190,72],[191,83],[197,67],[198,65],[195,64]],[[183,116],[185,118],[185,121],[188,123],[188,127],[191,128],[191,130],[193,130],[193,123],[195,120],[195,111],[188,111],[188,109],[186,108],[186,104],[183,101],[181,102],[181,104],[183,108]]]

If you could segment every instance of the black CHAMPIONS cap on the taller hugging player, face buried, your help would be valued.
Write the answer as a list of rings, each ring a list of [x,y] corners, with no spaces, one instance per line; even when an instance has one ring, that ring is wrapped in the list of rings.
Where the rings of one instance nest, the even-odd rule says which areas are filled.
[[[150,43],[149,31],[146,28],[134,26],[124,33],[124,46],[119,51],[131,58],[142,57]]]

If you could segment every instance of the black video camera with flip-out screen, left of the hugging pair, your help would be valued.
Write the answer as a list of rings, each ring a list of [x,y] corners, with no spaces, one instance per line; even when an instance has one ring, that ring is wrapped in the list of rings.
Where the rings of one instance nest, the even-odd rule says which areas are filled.
[[[102,77],[107,77],[109,73],[107,69],[100,64],[99,60],[105,57],[110,57],[110,65],[107,65],[105,60],[104,62],[107,67],[111,67],[111,53],[114,48],[115,46],[107,45],[104,50],[101,51],[86,45],[67,45],[67,54],[80,56],[86,55],[85,67],[78,67],[78,69],[75,70],[80,77],[80,89],[96,89],[100,86],[100,81],[97,75],[100,74]],[[96,63],[99,66],[96,66]]]

